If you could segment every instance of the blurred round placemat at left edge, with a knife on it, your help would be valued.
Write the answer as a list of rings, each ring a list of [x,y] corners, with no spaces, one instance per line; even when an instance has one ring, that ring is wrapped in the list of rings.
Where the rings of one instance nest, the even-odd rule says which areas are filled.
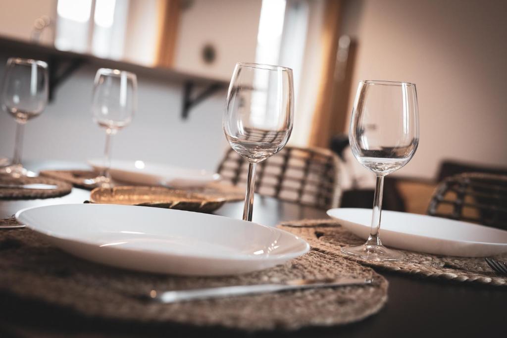
[[[70,193],[72,185],[53,178],[47,177],[20,177],[15,178],[9,175],[0,175],[0,184],[33,184],[44,183],[56,185],[56,189],[0,189],[0,199],[36,199],[64,196]]]

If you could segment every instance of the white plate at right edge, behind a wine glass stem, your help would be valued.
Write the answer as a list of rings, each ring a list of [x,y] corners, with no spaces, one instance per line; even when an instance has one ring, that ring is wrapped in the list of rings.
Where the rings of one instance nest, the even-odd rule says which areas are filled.
[[[355,235],[368,238],[371,209],[337,208],[328,215]],[[386,246],[433,254],[485,257],[507,252],[507,231],[453,219],[382,211],[380,238]]]

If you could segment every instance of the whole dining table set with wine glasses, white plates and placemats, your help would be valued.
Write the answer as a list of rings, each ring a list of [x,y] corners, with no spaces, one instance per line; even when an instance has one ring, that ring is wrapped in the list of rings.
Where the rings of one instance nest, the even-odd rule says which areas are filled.
[[[17,129],[0,166],[0,336],[503,336],[507,231],[382,211],[384,177],[419,145],[416,85],[359,82],[349,141],[376,176],[373,209],[340,208],[315,194],[328,187],[309,185],[331,165],[284,153],[293,77],[235,65],[222,122],[246,162],[231,182],[220,170],[112,158],[137,110],[136,74],[119,69],[98,69],[92,84],[102,159],[23,161],[48,65],[10,58],[1,99]],[[274,190],[297,201],[258,189],[277,157],[291,173],[273,174]]]

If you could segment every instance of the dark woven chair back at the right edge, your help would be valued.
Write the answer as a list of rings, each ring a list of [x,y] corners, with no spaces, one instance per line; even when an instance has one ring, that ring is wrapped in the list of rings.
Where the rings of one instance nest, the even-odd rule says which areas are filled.
[[[507,175],[448,177],[437,186],[427,213],[507,230]]]

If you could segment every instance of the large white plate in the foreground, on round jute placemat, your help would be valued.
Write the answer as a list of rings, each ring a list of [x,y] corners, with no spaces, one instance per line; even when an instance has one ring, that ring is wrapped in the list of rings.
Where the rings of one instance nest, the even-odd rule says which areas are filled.
[[[20,210],[16,218],[76,256],[155,273],[240,274],[309,250],[304,240],[276,228],[182,210],[61,204]]]

